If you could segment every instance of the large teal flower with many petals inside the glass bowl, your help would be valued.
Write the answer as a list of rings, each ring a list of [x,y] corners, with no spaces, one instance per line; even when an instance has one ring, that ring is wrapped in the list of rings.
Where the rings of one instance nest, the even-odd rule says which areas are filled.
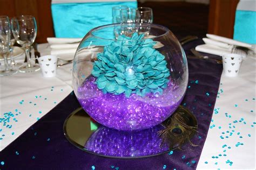
[[[125,93],[126,97],[132,93],[163,93],[170,76],[165,56],[153,48],[156,42],[143,37],[137,33],[131,38],[120,36],[98,53],[92,75],[97,77],[97,87],[103,93]]]

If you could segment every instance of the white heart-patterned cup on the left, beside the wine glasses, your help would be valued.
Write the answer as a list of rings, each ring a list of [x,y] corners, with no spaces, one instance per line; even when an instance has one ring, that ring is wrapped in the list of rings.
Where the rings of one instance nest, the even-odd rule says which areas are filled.
[[[44,55],[37,59],[42,70],[44,77],[56,76],[57,70],[57,56],[56,55]]]

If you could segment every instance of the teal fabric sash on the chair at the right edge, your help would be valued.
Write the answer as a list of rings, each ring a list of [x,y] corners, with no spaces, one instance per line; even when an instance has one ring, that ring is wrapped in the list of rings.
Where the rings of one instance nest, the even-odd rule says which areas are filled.
[[[234,39],[256,44],[256,12],[237,10],[235,12]]]

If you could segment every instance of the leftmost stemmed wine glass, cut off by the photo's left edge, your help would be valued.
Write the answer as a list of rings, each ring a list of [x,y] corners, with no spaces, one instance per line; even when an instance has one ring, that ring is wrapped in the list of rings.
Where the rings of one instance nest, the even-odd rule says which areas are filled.
[[[4,58],[4,69],[0,71],[1,76],[12,75],[17,73],[17,70],[11,69],[7,60],[7,53],[10,43],[10,22],[7,16],[0,16],[0,54]]]

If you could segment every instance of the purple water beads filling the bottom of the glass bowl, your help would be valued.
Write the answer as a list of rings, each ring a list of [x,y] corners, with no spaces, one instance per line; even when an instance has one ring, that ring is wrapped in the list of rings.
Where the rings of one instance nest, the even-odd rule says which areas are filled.
[[[95,81],[95,77],[89,76],[78,88],[78,101],[95,121],[118,130],[142,130],[160,124],[171,116],[184,97],[183,91],[172,81],[163,95],[132,94],[129,98],[124,94],[103,94]]]

